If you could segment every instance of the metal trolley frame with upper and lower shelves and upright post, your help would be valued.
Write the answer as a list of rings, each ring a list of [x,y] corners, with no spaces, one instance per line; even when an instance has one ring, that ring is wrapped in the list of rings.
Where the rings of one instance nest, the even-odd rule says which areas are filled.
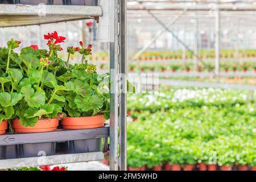
[[[118,78],[126,76],[126,1],[114,1],[114,42],[110,42],[110,170],[126,170],[126,84]],[[43,12],[42,12],[43,11]],[[45,16],[39,16],[43,13]],[[30,6],[0,5],[0,27],[28,26],[32,24],[57,23],[69,20],[96,19],[102,16],[100,6]],[[117,89],[116,89],[117,88]],[[117,90],[117,92],[112,92]],[[106,129],[106,128],[105,128]],[[105,130],[104,129],[104,130]],[[72,132],[72,131],[67,131]],[[82,132],[82,131],[81,131]],[[85,135],[80,133],[81,135]],[[75,135],[75,134],[74,134]],[[77,136],[79,138],[79,136]],[[80,136],[81,137],[81,136]],[[60,137],[61,138],[61,137]],[[62,136],[61,140],[65,137]],[[2,140],[4,138],[2,137]],[[69,139],[70,140],[70,139]],[[4,141],[3,141],[4,142]],[[2,143],[3,143],[2,142]],[[20,141],[24,142],[24,141]],[[6,159],[0,168],[20,168],[103,160],[103,152],[42,156],[36,158]]]

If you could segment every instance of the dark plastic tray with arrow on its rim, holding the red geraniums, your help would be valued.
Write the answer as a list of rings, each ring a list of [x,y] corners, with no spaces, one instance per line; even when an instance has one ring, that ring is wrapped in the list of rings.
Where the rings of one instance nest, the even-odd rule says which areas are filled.
[[[85,130],[0,135],[0,160],[108,150],[109,126]],[[60,147],[60,146],[61,147]]]

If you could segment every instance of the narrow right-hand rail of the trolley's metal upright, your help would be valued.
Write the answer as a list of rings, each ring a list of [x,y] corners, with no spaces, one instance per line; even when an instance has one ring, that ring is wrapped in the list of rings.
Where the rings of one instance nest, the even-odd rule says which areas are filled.
[[[122,86],[121,92],[119,95],[119,146],[120,154],[118,159],[118,164],[121,171],[126,171],[126,74],[127,74],[127,50],[126,50],[126,27],[127,27],[127,18],[126,18],[126,0],[119,0],[119,47],[120,55],[118,57],[119,62],[119,72],[122,76]],[[124,79],[124,80],[123,80]]]

